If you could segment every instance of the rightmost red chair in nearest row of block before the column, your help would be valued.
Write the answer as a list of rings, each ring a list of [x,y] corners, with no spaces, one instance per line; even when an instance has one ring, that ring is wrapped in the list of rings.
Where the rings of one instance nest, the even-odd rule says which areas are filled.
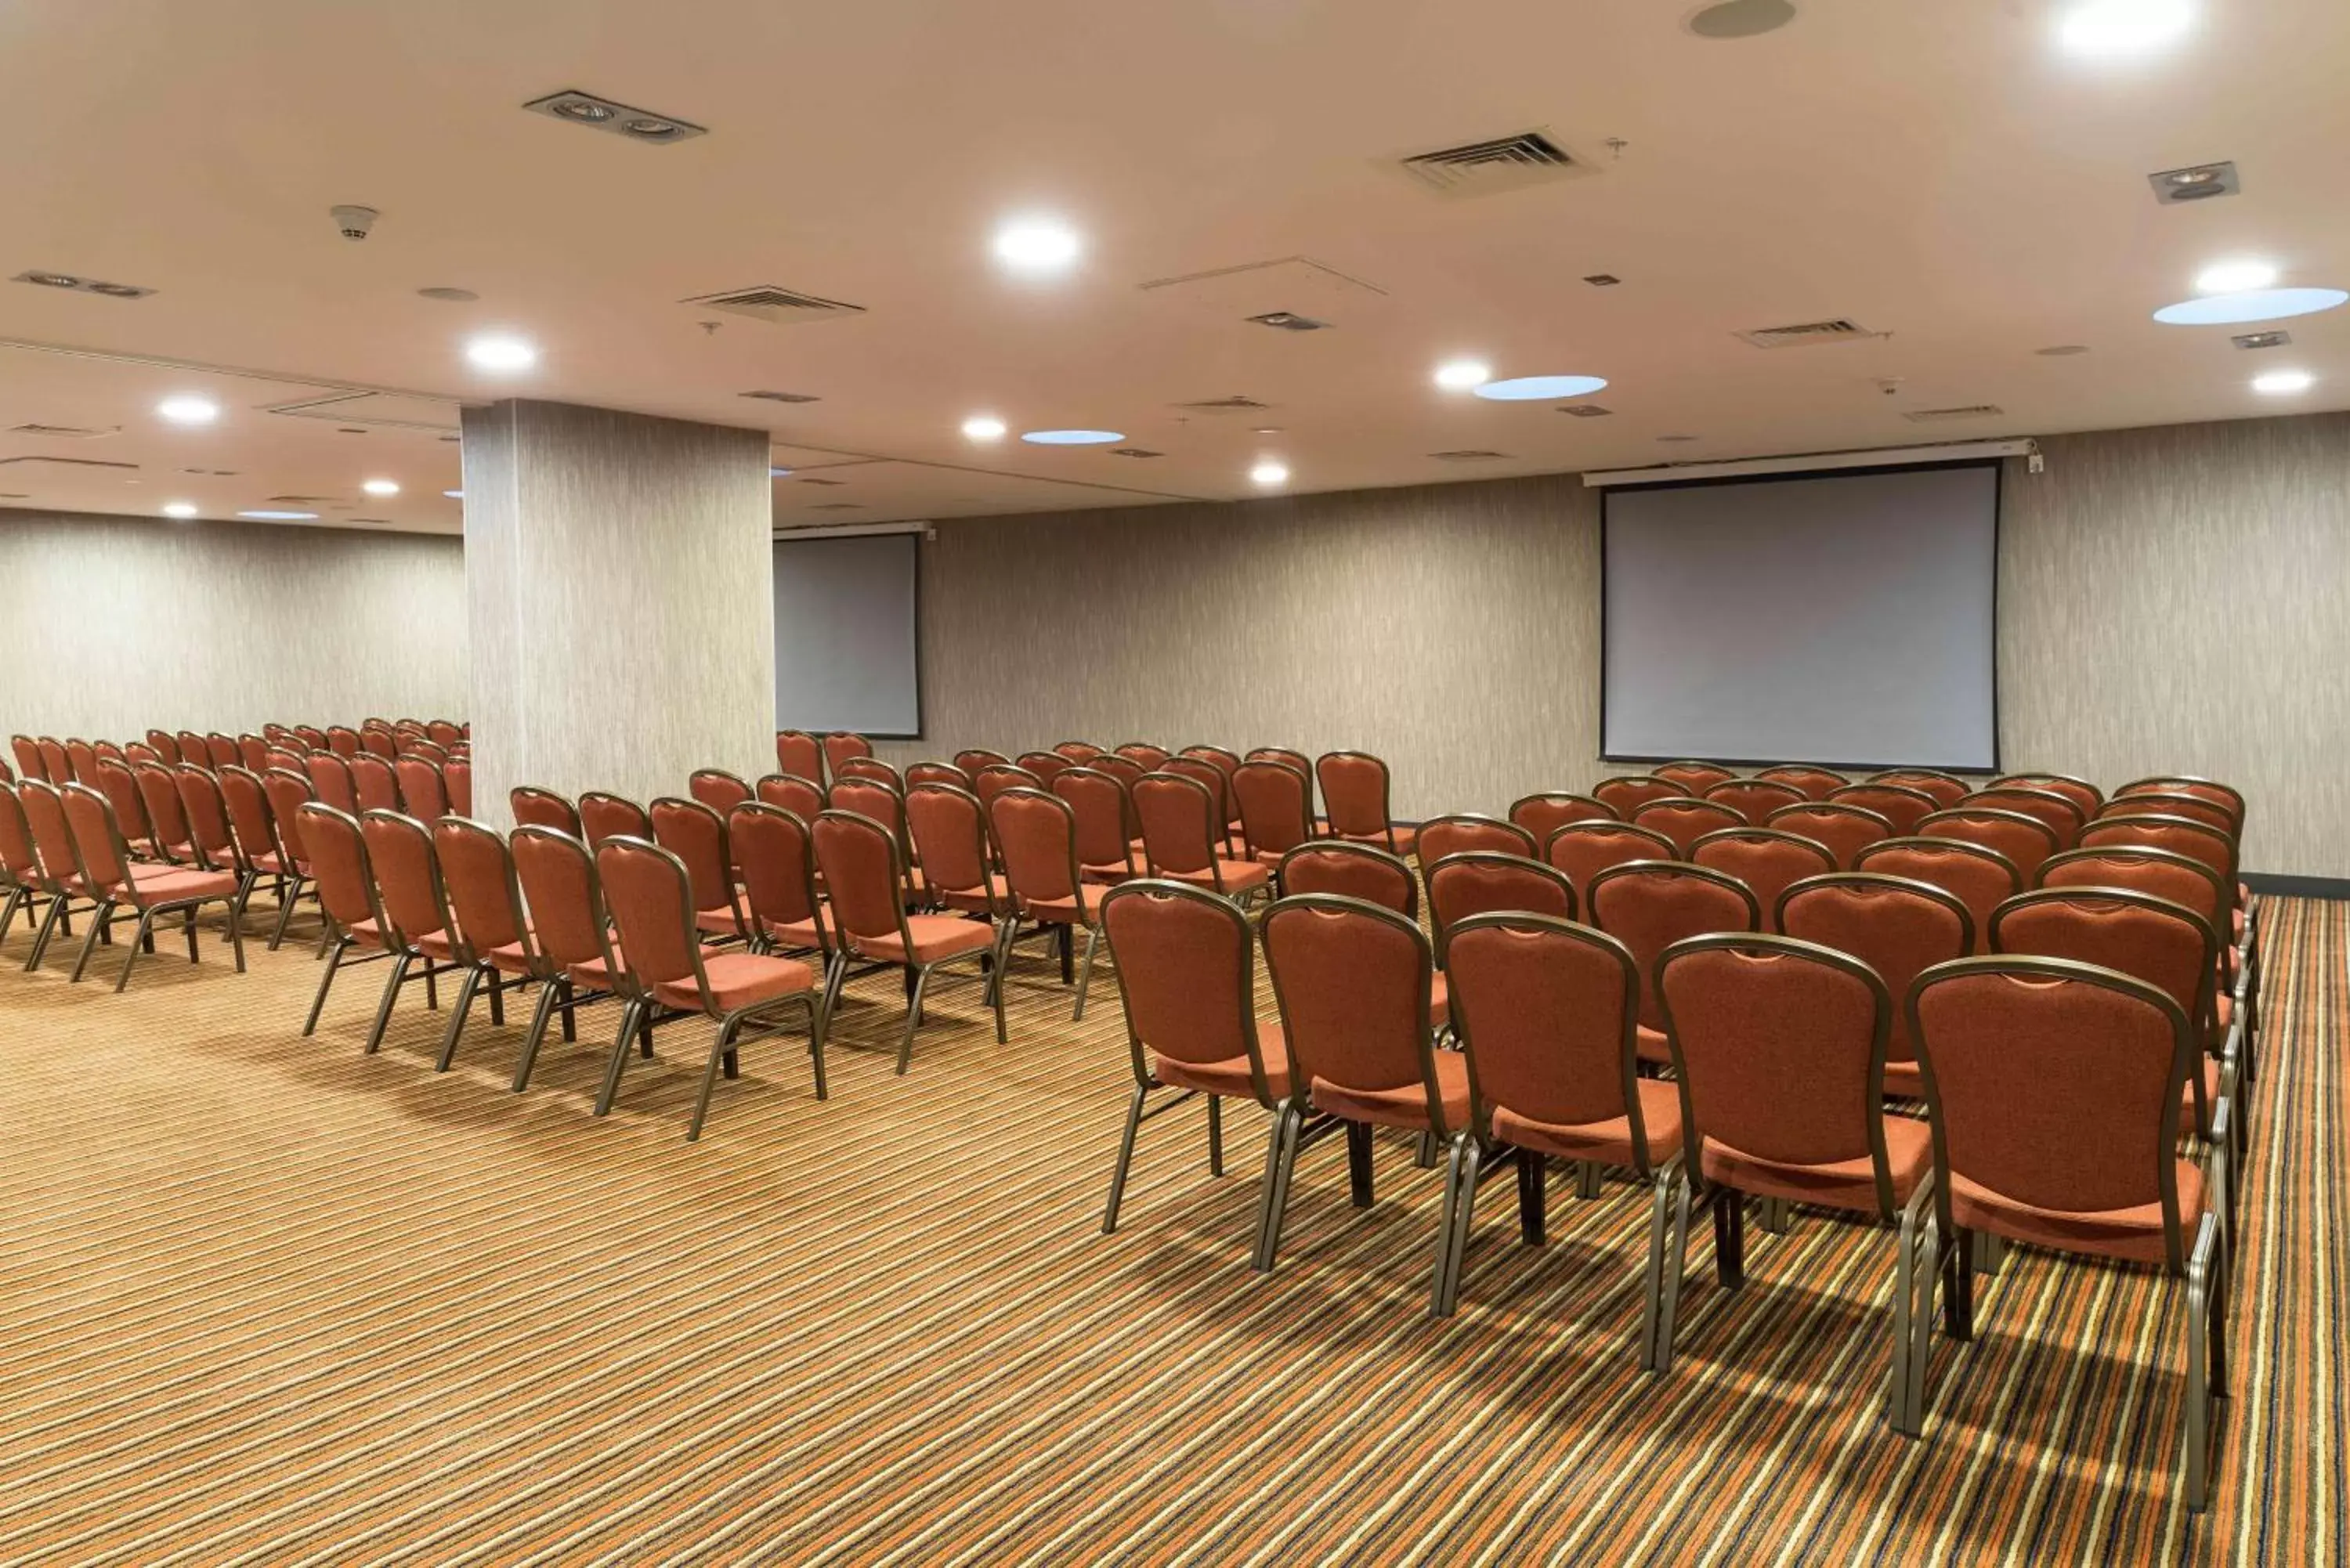
[[[693,804],[700,806],[700,802]],[[700,809],[707,811],[707,806]],[[745,1044],[783,1034],[776,1018],[783,1009],[806,1013],[815,1098],[827,1098],[825,1011],[815,969],[766,952],[705,950],[698,940],[693,877],[674,853],[658,844],[611,839],[597,851],[595,865],[604,882],[604,900],[620,950],[627,952],[627,969],[620,976],[625,994],[620,1039],[604,1072],[604,1091],[597,1095],[595,1114],[606,1114],[620,1093],[620,1070],[627,1065],[632,1032],[630,1018],[642,1020],[637,1027],[693,1016],[717,1023],[693,1117],[686,1121],[686,1143],[703,1135],[703,1119],[710,1114],[710,1093],[719,1072],[724,1070],[728,1079],[738,1077]],[[757,1032],[745,1034],[752,1027]]]

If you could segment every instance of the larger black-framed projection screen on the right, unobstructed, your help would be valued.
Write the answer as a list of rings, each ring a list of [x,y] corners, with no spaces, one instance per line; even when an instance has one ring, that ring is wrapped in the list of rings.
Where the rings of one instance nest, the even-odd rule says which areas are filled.
[[[1610,762],[1995,769],[1995,463],[1612,489]]]

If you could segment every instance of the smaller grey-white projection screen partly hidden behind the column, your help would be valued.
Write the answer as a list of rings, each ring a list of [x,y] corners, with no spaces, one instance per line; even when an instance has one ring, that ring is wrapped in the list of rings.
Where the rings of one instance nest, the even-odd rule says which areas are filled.
[[[919,534],[776,541],[776,724],[921,736]]]

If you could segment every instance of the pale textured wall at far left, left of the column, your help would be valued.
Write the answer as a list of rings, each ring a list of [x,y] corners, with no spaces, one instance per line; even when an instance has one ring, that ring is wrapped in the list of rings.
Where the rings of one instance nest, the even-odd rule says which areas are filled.
[[[0,733],[465,715],[454,538],[0,512]]]

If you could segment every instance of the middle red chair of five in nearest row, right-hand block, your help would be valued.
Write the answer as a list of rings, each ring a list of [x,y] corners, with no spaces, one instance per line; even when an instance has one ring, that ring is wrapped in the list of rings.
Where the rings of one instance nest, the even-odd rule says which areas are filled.
[[[1436,903],[1431,886],[1429,903]],[[1640,1180],[1680,1159],[1680,1091],[1638,1074],[1640,966],[1605,931],[1497,910],[1452,926],[1455,1032],[1469,1065],[1469,1128],[1518,1168],[1518,1237],[1542,1246],[1549,1161],[1600,1194],[1605,1168]],[[1488,1166],[1478,1150],[1478,1173]],[[1459,1302],[1476,1182],[1457,1187],[1436,1314]]]

